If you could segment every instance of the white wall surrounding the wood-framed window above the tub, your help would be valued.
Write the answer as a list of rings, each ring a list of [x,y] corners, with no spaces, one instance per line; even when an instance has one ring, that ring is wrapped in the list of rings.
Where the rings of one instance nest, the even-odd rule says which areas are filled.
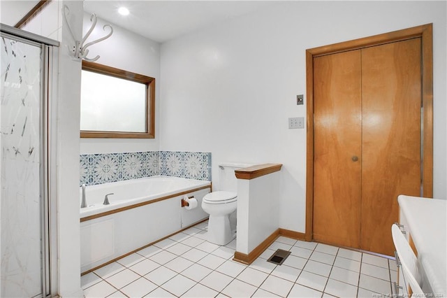
[[[90,14],[84,14],[83,34],[91,27]],[[86,44],[108,34],[103,30],[105,23],[98,22]],[[110,38],[91,45],[87,57],[99,55],[96,63],[124,69],[133,73],[155,78],[155,139],[81,139],[81,154],[111,152],[141,152],[159,150],[159,94],[160,94],[160,44],[151,41],[122,27],[111,24],[113,34]]]

